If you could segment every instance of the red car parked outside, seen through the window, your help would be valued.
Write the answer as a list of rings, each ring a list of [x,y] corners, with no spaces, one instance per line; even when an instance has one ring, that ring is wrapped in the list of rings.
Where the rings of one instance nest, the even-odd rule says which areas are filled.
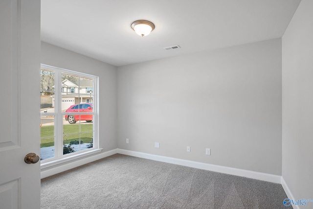
[[[67,120],[70,124],[76,123],[79,120],[86,120],[86,122],[92,121],[92,115],[75,115],[75,113],[84,113],[84,112],[92,112],[93,106],[91,103],[83,103],[83,104],[75,104],[71,105],[65,112],[71,113],[71,115],[65,116],[65,120]]]

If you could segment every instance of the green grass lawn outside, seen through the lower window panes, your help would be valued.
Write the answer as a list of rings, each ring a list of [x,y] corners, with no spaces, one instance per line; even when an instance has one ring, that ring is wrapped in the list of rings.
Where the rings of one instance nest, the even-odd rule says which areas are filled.
[[[63,126],[63,144],[68,144],[72,140],[81,140],[84,143],[92,142],[92,123],[81,124],[82,133],[79,139],[79,123],[68,124]],[[42,126],[40,128],[40,137],[51,137],[40,140],[40,147],[48,147],[54,145],[54,126]]]

